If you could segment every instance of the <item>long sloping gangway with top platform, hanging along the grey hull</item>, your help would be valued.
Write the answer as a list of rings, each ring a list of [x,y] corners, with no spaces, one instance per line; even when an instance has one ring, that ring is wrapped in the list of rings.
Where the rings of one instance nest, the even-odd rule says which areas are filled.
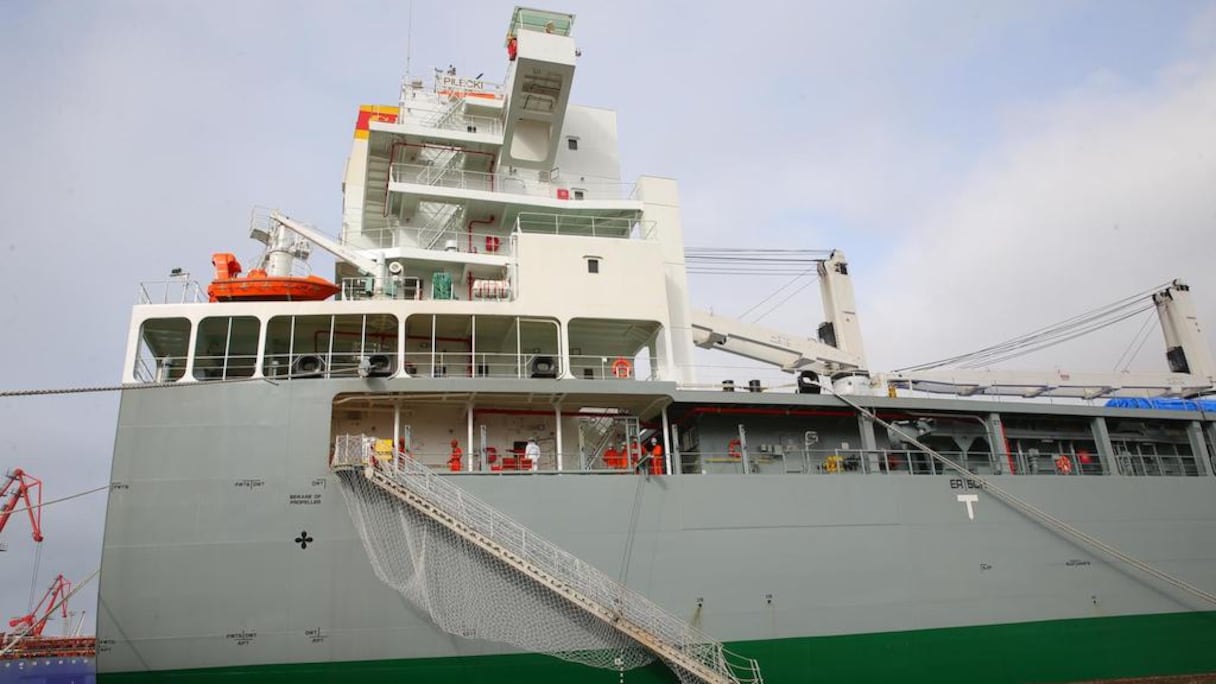
[[[331,466],[375,487],[664,660],[685,682],[761,684],[759,663],[733,654],[642,594],[562,550],[404,453],[377,459],[375,439],[339,436]],[[344,481],[344,484],[349,482]],[[348,487],[348,492],[355,492]],[[434,616],[433,616],[434,617]]]

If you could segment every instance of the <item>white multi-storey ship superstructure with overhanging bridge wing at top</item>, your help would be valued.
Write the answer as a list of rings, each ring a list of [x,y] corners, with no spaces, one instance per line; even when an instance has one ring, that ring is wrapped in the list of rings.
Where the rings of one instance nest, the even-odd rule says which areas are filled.
[[[603,377],[618,358],[641,360],[644,337],[649,368],[688,380],[675,183],[623,180],[615,112],[569,101],[573,24],[573,15],[517,9],[501,78],[441,65],[407,74],[395,106],[360,107],[337,240],[359,258],[330,250],[339,256],[340,298],[432,301],[440,305],[415,313],[462,321],[556,316],[572,330],[592,321],[626,343],[572,333],[567,349],[531,348],[586,357],[563,363],[562,375]]]

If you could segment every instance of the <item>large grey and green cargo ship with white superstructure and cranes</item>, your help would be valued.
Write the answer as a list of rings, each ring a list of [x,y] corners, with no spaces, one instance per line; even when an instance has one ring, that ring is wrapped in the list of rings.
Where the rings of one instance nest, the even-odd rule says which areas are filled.
[[[1216,364],[866,363],[843,252],[686,248],[569,101],[574,17],[501,83],[358,111],[340,232],[255,211],[248,274],[142,284],[97,675],[151,682],[1073,682],[1216,672]],[[333,280],[305,260],[336,258]],[[694,309],[689,264],[818,274],[824,321]],[[698,379],[702,354],[787,385]],[[1055,399],[1047,403],[1045,399]]]

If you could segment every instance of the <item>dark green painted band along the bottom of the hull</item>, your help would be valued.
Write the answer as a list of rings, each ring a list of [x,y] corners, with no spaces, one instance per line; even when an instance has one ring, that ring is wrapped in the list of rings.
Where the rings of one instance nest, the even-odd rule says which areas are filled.
[[[1216,672],[1216,612],[1059,619],[731,644],[766,684],[804,682],[1076,682]],[[98,675],[102,684],[322,682],[619,684],[619,673],[536,654],[220,667]],[[671,684],[660,665],[627,684]]]

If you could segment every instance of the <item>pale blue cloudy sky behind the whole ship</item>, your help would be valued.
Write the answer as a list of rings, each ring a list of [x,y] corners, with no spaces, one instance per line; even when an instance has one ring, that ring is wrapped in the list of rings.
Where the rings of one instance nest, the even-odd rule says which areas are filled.
[[[572,101],[617,110],[625,176],[680,181],[688,246],[848,254],[872,369],[1172,277],[1216,325],[1216,2],[541,6],[576,15]],[[336,234],[358,106],[395,103],[407,52],[415,74],[496,79],[511,9],[0,0],[0,389],[118,382],[139,282],[255,256],[254,206]],[[692,301],[738,315],[784,284],[698,276]],[[814,335],[821,315],[812,285],[762,323]],[[1019,368],[1113,370],[1142,323]],[[1133,370],[1164,370],[1150,325]],[[0,398],[0,466],[49,499],[105,484],[117,410]],[[105,494],[47,506],[36,578],[11,520],[0,615],[32,578],[94,571],[103,516]]]

